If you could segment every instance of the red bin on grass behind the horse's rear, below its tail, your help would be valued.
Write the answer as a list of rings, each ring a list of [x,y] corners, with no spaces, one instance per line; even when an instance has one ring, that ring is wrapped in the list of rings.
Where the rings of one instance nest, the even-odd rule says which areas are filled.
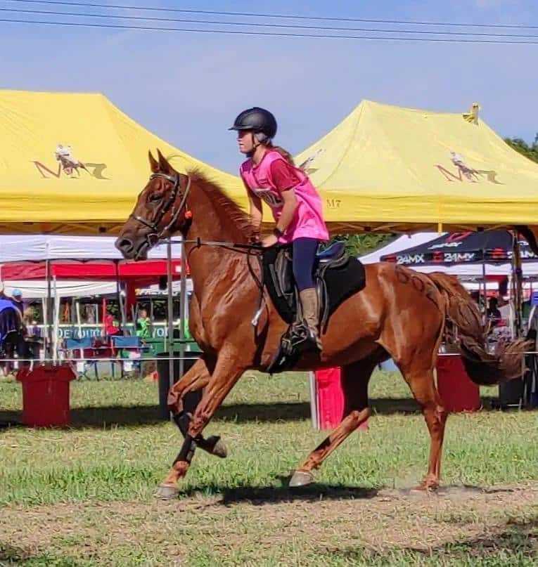
[[[437,390],[449,412],[475,412],[480,409],[480,389],[471,382],[459,355],[439,355]]]

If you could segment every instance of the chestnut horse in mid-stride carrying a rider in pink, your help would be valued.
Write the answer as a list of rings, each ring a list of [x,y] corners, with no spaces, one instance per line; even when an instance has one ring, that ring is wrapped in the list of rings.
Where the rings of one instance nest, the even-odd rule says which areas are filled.
[[[250,216],[210,179],[174,170],[160,151],[158,159],[149,152],[149,162],[148,183],[115,245],[124,258],[143,260],[160,239],[181,233],[193,281],[190,330],[203,350],[169,390],[169,410],[184,434],[179,455],[158,488],[158,497],[169,498],[179,492],[196,446],[211,452],[203,438],[207,422],[243,372],[267,370],[287,325],[267,294],[256,327],[251,325],[261,268],[249,247],[255,237]],[[478,308],[450,275],[425,275],[383,262],[364,268],[364,289],[336,309],[321,334],[321,356],[304,353],[294,367],[341,367],[345,409],[336,429],[297,467],[290,486],[312,483],[312,471],[369,418],[369,379],[379,363],[392,358],[421,406],[430,434],[428,470],[416,488],[435,490],[447,410],[433,371],[444,330],[456,328],[463,363],[476,384],[520,376],[525,343],[513,341],[488,353]],[[199,402],[191,411],[184,398],[197,391]]]

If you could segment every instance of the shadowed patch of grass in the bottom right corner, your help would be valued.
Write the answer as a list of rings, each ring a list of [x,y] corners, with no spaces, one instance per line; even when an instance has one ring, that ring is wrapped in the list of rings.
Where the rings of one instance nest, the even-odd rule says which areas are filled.
[[[357,564],[369,565],[470,565],[479,563],[488,566],[534,566],[538,564],[538,516],[530,521],[508,522],[499,533],[489,537],[475,537],[470,540],[446,542],[437,547],[397,547],[387,537],[386,551],[367,547],[347,549],[321,549],[319,553],[331,559],[340,559]]]

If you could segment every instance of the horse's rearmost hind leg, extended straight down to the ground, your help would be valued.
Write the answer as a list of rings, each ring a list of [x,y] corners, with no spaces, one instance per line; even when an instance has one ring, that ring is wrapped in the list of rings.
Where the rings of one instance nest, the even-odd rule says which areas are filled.
[[[414,398],[421,405],[428,431],[430,431],[428,473],[416,488],[418,490],[435,490],[439,488],[444,426],[447,422],[448,412],[444,409],[433,382],[433,368],[421,371],[402,368],[402,373]]]

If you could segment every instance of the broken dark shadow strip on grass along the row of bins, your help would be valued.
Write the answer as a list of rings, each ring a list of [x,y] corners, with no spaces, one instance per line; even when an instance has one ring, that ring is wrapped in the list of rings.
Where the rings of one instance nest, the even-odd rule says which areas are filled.
[[[483,411],[492,410],[494,399],[482,398]],[[373,415],[415,414],[421,411],[412,398],[373,398],[370,400],[370,407]],[[306,402],[237,403],[222,406],[217,411],[214,421],[273,423],[302,421],[309,418],[310,404]],[[74,408],[71,410],[73,429],[91,427],[103,429],[103,427],[114,425],[155,425],[164,421],[159,417],[157,406],[153,405]],[[20,412],[0,410],[0,428],[20,424]]]

